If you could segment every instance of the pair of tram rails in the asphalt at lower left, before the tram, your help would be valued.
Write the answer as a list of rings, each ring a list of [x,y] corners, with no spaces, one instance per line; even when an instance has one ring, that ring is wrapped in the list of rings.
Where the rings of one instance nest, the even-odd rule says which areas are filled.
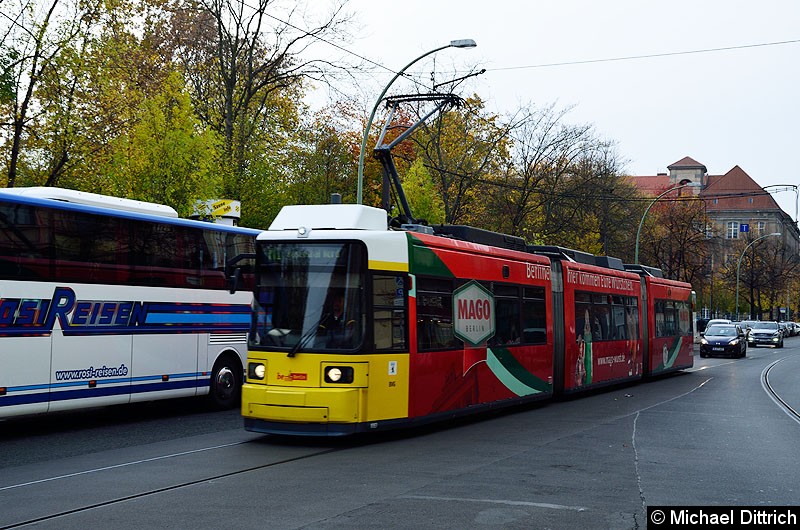
[[[222,448],[226,448],[226,447],[231,447],[233,445],[247,445],[247,444],[252,444],[252,443],[255,443],[255,442],[258,442],[258,440],[257,439],[256,440],[247,440],[247,441],[238,442],[238,443],[235,443],[235,444],[225,444],[223,446],[217,446],[217,447],[211,447],[211,448],[205,448],[205,449],[199,449],[199,450],[192,450],[192,451],[185,451],[185,452],[174,453],[174,454],[170,454],[170,455],[162,455],[162,456],[159,456],[159,457],[148,458],[148,459],[145,459],[145,460],[140,460],[140,461],[135,461],[135,462],[127,462],[127,463],[122,463],[122,464],[117,464],[117,465],[112,465],[112,466],[105,466],[103,468],[85,470],[85,471],[81,471],[81,472],[70,473],[70,474],[67,474],[67,475],[50,477],[50,478],[41,479],[41,480],[37,480],[37,481],[31,481],[31,482],[28,482],[28,483],[13,484],[13,485],[9,485],[9,486],[5,486],[5,487],[0,488],[0,492],[2,492],[3,490],[9,490],[9,489],[16,489],[16,488],[21,488],[21,487],[26,487],[26,486],[32,486],[32,485],[36,485],[36,484],[40,484],[40,483],[44,483],[44,482],[52,482],[52,481],[55,481],[55,480],[62,480],[62,479],[67,479],[67,478],[74,478],[74,477],[81,476],[81,475],[88,475],[88,474],[92,474],[92,473],[109,471],[109,470],[118,469],[118,468],[121,468],[121,467],[129,467],[129,466],[135,466],[135,465],[151,463],[151,462],[156,461],[156,460],[162,460],[162,459],[167,459],[167,458],[175,458],[175,457],[185,456],[185,455],[189,455],[189,454],[192,454],[192,453],[197,453],[197,452],[200,452],[200,451],[203,451],[203,450],[222,449]],[[61,517],[75,515],[75,514],[79,514],[79,513],[82,513],[82,512],[87,512],[87,511],[90,511],[90,510],[95,510],[95,509],[98,509],[98,508],[114,506],[114,505],[122,504],[122,503],[125,503],[125,502],[129,502],[129,501],[132,501],[132,500],[147,498],[147,497],[151,497],[151,496],[154,496],[154,495],[159,495],[159,494],[170,492],[170,491],[176,491],[176,490],[180,490],[182,488],[191,487],[191,486],[194,486],[194,485],[197,485],[197,484],[202,484],[202,483],[205,483],[205,482],[210,482],[210,481],[214,481],[214,480],[235,477],[235,476],[244,475],[246,473],[250,473],[250,472],[253,472],[253,471],[258,471],[258,470],[262,470],[262,469],[269,469],[269,468],[277,467],[277,466],[284,465],[284,464],[290,464],[290,463],[294,463],[294,462],[299,462],[299,461],[306,460],[306,459],[309,459],[309,458],[314,458],[314,457],[317,457],[317,456],[322,456],[322,455],[326,455],[326,454],[342,451],[345,448],[346,448],[346,446],[326,448],[326,449],[319,450],[319,451],[314,451],[314,452],[311,452],[311,453],[308,453],[308,454],[298,455],[298,456],[294,456],[294,457],[290,457],[290,458],[284,458],[284,459],[281,459],[281,460],[268,462],[268,463],[261,464],[261,465],[249,466],[249,467],[244,468],[244,469],[238,469],[238,470],[230,471],[230,472],[227,472],[227,473],[217,473],[217,474],[214,474],[214,475],[205,476],[205,477],[194,479],[194,480],[186,480],[186,481],[183,481],[183,482],[179,482],[177,484],[171,484],[169,486],[153,488],[153,489],[149,489],[147,491],[142,491],[142,492],[134,493],[134,494],[130,494],[130,495],[123,495],[123,496],[120,496],[120,497],[117,497],[117,498],[114,498],[114,499],[105,500],[105,501],[102,501],[102,502],[89,503],[89,504],[85,504],[83,506],[78,506],[78,507],[70,508],[70,509],[67,509],[67,510],[61,510],[61,511],[58,511],[58,512],[55,512],[55,513],[51,513],[51,514],[47,514],[47,515],[41,515],[41,516],[38,516],[38,517],[31,517],[31,518],[25,519],[23,521],[17,521],[17,522],[11,523],[11,524],[5,524],[3,526],[0,526],[0,530],[7,530],[7,529],[13,529],[13,528],[23,528],[23,527],[26,527],[26,526],[29,526],[29,525],[40,524],[40,523],[44,523],[44,522],[48,522],[48,521],[55,521],[55,520],[57,520],[57,519],[59,519]]]

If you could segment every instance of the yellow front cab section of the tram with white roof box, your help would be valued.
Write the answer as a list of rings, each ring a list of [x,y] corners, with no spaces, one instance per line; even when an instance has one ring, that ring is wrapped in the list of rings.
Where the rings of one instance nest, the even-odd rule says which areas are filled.
[[[245,428],[330,436],[407,418],[406,233],[376,208],[291,206],[256,252]]]

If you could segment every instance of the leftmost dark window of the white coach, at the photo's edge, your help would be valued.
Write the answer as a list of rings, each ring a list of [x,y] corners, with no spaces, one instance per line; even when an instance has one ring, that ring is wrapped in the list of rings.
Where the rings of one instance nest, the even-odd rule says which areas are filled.
[[[52,246],[46,210],[0,204],[0,278],[47,280]]]

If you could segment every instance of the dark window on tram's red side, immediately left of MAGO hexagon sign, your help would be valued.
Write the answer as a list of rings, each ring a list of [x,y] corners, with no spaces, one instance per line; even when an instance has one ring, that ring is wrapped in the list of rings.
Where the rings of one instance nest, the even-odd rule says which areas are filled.
[[[420,351],[461,346],[453,333],[453,284],[450,280],[418,279],[417,345]]]

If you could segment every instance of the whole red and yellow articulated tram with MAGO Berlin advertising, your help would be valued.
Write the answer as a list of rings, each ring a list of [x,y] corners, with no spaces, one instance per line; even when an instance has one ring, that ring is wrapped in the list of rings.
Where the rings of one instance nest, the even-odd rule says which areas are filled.
[[[689,286],[653,272],[470,227],[389,229],[367,206],[284,207],[256,241],[245,428],[372,432],[691,366]]]

